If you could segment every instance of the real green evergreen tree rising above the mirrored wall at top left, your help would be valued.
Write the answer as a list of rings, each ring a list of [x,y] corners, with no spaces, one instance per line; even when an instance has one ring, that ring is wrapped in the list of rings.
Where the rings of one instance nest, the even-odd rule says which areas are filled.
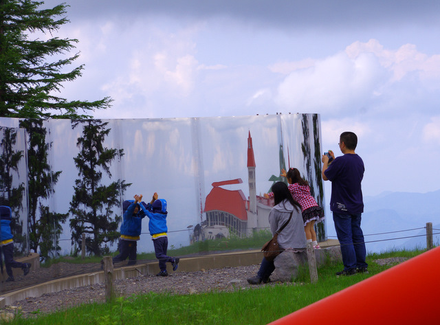
[[[85,118],[94,109],[106,109],[110,98],[87,102],[56,96],[63,82],[81,76],[84,66],[66,72],[79,54],[59,58],[74,49],[78,40],[30,39],[33,32],[52,36],[68,22],[68,5],[39,9],[42,4],[43,1],[0,0],[0,116]]]

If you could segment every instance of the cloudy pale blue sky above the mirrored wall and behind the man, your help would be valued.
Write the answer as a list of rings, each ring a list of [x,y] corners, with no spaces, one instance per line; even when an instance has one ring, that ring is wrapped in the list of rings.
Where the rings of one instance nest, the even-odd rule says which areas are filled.
[[[319,113],[324,151],[358,135],[364,195],[440,188],[439,1],[65,2],[61,95],[113,98],[96,118]]]

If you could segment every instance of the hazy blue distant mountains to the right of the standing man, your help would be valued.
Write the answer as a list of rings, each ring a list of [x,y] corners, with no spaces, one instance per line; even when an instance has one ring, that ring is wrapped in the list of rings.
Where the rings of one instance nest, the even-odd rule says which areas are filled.
[[[383,192],[364,197],[362,230],[369,253],[426,248],[426,223],[432,223],[434,245],[440,244],[440,190],[427,193]],[[327,214],[330,216],[331,214]],[[335,234],[327,223],[329,236]],[[437,233],[437,234],[436,234]]]

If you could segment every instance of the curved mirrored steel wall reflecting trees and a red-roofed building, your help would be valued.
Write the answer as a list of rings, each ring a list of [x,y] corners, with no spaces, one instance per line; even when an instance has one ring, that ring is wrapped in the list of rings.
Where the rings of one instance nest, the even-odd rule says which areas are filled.
[[[89,254],[115,251],[121,202],[135,194],[148,202],[154,192],[168,201],[168,247],[251,236],[267,229],[271,202],[264,194],[289,166],[302,172],[318,204],[325,204],[317,114],[0,118],[0,126],[2,172],[12,177],[2,177],[0,199],[14,205],[22,254],[78,253],[83,233]],[[3,163],[12,160],[9,167]],[[327,239],[325,224],[317,229],[319,239]],[[153,251],[147,218],[137,251]]]

